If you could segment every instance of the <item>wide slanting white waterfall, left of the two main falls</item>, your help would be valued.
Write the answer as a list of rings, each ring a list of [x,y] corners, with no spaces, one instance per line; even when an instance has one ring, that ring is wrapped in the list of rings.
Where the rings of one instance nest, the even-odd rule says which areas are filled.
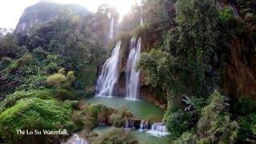
[[[113,96],[115,86],[118,83],[119,76],[119,53],[121,47],[121,41],[119,41],[114,50],[112,51],[111,57],[104,63],[102,67],[102,73],[98,76],[96,84],[96,95],[97,96]]]

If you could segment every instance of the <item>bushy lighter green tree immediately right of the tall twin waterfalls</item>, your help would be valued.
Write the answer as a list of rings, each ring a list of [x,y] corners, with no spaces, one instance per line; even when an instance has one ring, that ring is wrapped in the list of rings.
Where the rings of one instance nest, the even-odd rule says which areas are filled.
[[[173,56],[165,51],[152,49],[149,53],[142,54],[138,66],[146,74],[147,85],[161,86],[163,90],[170,90],[176,82],[173,74],[174,64]]]

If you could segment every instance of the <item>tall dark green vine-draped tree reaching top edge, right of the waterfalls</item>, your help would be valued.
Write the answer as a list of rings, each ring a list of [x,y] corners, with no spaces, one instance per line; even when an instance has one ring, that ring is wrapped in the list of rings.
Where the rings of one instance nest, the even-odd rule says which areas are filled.
[[[176,6],[178,26],[170,32],[167,50],[178,57],[182,87],[190,95],[206,97],[218,87],[217,6],[214,0],[180,0]]]

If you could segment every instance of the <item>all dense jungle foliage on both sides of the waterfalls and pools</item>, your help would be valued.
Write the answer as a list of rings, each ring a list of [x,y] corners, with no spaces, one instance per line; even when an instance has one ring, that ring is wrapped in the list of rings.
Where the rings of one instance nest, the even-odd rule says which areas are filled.
[[[105,117],[120,127],[129,112],[81,99],[94,95],[99,67],[110,53],[106,47],[120,39],[129,47],[133,36],[142,38],[143,85],[167,104],[163,121],[170,139],[256,142],[255,7],[253,0],[143,0],[143,10],[135,5],[114,24],[113,42],[106,40],[109,14],[118,14],[107,5],[96,14],[63,10],[65,17],[38,22],[26,32],[1,29],[0,142],[52,143],[63,138],[12,130],[89,132]],[[94,142],[137,143],[120,129]]]

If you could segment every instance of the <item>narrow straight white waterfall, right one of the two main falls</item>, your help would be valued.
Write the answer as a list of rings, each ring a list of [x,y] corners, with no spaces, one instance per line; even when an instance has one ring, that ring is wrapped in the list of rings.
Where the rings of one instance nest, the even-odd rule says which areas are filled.
[[[141,54],[141,38],[132,38],[130,41],[130,54],[126,64],[126,99],[137,100],[139,95],[140,71],[136,70]]]

